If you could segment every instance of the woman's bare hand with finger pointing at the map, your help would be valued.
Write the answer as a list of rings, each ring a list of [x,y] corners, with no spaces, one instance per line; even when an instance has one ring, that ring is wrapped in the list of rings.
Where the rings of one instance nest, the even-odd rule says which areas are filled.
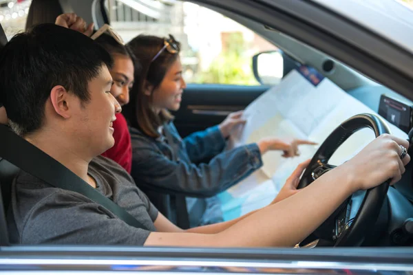
[[[279,140],[273,137],[266,137],[257,142],[260,148],[261,155],[264,155],[268,151],[279,150],[284,151],[283,157],[295,157],[299,155],[298,146],[302,144],[315,145],[316,142],[310,142],[309,140]]]

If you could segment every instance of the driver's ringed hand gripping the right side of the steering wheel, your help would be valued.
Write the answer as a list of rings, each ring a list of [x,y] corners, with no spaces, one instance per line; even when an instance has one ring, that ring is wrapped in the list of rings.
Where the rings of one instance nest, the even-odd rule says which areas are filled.
[[[409,148],[409,142],[393,135],[380,135],[357,155],[341,166],[347,169],[353,192],[367,190],[392,179],[395,184],[405,173],[410,155],[400,158],[402,148]]]

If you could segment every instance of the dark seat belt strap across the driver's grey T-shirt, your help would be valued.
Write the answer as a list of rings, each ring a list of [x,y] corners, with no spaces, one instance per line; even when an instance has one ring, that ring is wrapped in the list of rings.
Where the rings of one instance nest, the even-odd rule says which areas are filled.
[[[148,228],[50,155],[0,124],[0,157],[51,186],[78,192],[135,228]]]

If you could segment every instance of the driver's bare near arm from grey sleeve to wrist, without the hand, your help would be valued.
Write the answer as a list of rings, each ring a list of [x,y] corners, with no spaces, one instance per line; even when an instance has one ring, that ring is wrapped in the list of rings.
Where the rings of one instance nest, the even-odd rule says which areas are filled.
[[[145,245],[293,246],[313,232],[352,193],[351,181],[346,177],[348,173],[343,168],[337,173],[336,169],[336,173],[326,173],[297,195],[262,208],[229,228],[223,226],[221,232],[200,234],[196,229],[184,234],[152,232]],[[344,182],[331,184],[335,176],[342,177]]]

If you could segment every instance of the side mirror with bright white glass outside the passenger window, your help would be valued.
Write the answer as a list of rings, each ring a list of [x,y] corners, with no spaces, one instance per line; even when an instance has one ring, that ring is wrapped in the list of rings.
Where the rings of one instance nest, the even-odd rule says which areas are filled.
[[[260,52],[253,56],[253,72],[262,85],[277,85],[291,70],[300,64],[281,50]]]

